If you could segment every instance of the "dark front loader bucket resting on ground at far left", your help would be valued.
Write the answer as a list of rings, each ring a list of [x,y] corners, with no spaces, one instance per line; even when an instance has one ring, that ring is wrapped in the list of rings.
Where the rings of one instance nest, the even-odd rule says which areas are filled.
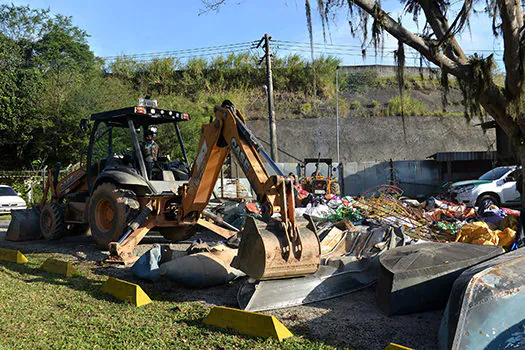
[[[31,241],[41,237],[40,209],[37,206],[31,209],[11,211],[11,222],[5,239],[8,241]]]

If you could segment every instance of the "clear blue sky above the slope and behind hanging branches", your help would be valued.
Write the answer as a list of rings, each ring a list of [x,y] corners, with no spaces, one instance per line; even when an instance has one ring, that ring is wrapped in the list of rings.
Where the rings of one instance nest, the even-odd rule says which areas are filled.
[[[250,42],[264,33],[275,40],[299,43],[309,40],[303,0],[230,0],[219,12],[201,15],[200,0],[10,0],[7,3],[50,8],[52,13],[72,16],[74,24],[90,35],[91,49],[102,57]],[[397,0],[383,4],[394,18],[402,10]],[[405,23],[417,31],[411,19]],[[314,41],[322,44],[321,23],[316,15],[313,24]],[[370,50],[366,62],[363,61],[358,54],[360,41],[351,37],[344,12],[338,13],[330,33],[329,44],[355,46],[347,48],[354,55],[341,56],[343,64],[393,63],[388,49],[382,58],[375,57]],[[483,16],[472,19],[471,33],[463,35],[460,41],[467,50],[501,49],[501,41],[492,39],[490,22]],[[387,48],[395,45],[392,38],[385,40]],[[276,45],[275,49],[282,55],[297,51],[309,57],[308,49],[301,44]],[[416,62],[407,61],[408,65],[411,63]]]

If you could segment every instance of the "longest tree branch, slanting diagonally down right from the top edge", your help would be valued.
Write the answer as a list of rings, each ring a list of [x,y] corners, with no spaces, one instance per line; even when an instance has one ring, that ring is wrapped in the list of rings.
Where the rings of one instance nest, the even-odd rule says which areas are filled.
[[[381,6],[372,0],[354,0],[354,4],[359,6],[363,11],[379,20],[384,30],[390,33],[394,38],[400,40],[406,45],[419,51],[427,60],[434,63],[442,70],[458,78],[465,78],[468,75],[466,66],[459,65],[444,54],[431,48],[428,43],[420,36],[408,31],[401,24],[397,23],[390,17]]]

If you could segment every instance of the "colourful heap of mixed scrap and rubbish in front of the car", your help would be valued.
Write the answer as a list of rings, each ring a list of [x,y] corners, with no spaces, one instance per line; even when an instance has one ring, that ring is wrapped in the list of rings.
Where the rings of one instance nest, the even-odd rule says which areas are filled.
[[[401,189],[389,185],[375,187],[360,197],[317,199],[297,211],[325,222],[347,218],[354,224],[398,227],[418,242],[455,241],[507,249],[514,243],[520,215],[517,210],[495,205],[469,208],[434,197],[419,202],[403,197]]]

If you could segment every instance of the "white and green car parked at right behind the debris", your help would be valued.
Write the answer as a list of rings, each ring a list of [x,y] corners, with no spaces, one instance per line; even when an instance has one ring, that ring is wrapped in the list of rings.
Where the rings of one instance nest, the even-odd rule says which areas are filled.
[[[487,171],[477,180],[455,182],[452,199],[467,206],[519,205],[521,195],[516,190],[516,177],[521,168],[502,166]]]

